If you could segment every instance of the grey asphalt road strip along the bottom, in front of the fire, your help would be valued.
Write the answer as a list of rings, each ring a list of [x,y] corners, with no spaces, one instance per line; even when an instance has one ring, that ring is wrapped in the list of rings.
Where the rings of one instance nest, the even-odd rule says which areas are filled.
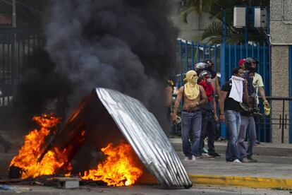
[[[248,188],[231,188],[231,187],[193,187],[191,189],[162,189],[160,186],[133,186],[133,187],[80,187],[80,189],[56,189],[53,187],[32,187],[32,186],[13,186],[15,189],[1,191],[1,195],[6,194],[39,194],[39,195],[83,195],[83,194],[204,194],[204,195],[224,195],[224,194],[250,194],[250,195],[267,195],[292,194],[292,191],[283,189],[248,189]]]

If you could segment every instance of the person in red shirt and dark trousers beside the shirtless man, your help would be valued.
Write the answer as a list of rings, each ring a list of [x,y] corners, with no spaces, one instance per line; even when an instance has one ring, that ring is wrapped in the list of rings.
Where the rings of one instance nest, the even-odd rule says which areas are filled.
[[[200,73],[200,83],[205,89],[208,103],[201,106],[202,112],[202,130],[200,137],[200,155],[202,155],[202,149],[205,146],[204,139],[208,137],[208,157],[219,157],[219,153],[215,152],[215,121],[218,121],[216,103],[214,99],[214,88],[211,84],[211,73],[209,71],[202,71]]]

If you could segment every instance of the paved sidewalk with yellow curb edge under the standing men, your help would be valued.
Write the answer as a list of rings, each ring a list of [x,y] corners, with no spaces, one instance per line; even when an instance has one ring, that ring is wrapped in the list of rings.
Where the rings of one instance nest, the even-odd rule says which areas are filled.
[[[226,142],[216,142],[221,158],[198,158],[184,161],[181,138],[170,138],[193,184],[255,188],[292,189],[292,144],[261,143],[255,146],[259,162],[226,162]]]

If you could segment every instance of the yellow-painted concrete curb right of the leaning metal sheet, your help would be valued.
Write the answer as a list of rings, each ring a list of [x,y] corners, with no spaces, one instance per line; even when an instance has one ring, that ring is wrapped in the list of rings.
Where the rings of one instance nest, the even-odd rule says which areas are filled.
[[[189,175],[189,177],[193,185],[292,189],[292,179],[217,175]]]

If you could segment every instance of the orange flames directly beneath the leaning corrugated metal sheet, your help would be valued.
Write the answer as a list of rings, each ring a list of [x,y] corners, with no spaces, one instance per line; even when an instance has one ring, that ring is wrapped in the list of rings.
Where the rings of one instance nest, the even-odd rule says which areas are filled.
[[[101,149],[107,159],[97,165],[96,170],[85,171],[82,179],[106,182],[108,186],[129,186],[136,182],[142,175],[142,170],[135,165],[135,153],[128,143],[121,141],[114,147],[109,143]]]

